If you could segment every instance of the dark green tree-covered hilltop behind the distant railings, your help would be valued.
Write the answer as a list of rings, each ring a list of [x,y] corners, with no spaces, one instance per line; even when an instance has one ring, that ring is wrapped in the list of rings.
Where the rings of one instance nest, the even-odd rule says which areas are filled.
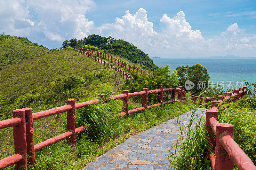
[[[83,45],[93,45],[97,46],[100,50],[105,50],[105,52],[117,55],[122,58],[126,58],[133,63],[140,64],[142,68],[148,69],[150,71],[156,70],[158,67],[153,63],[152,59],[148,57],[142,50],[138,49],[136,46],[128,43],[124,40],[116,40],[112,37],[101,37],[100,35],[88,35],[84,40],[71,39],[63,42],[62,47],[71,46],[73,48],[79,49]]]

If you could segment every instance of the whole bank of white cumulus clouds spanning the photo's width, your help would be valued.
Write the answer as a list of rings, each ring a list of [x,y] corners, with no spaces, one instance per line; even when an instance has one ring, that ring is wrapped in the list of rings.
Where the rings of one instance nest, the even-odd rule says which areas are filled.
[[[209,55],[252,56],[256,52],[256,36],[244,34],[245,29],[230,23],[219,36],[205,39],[200,30],[192,28],[183,11],[175,16],[163,14],[161,31],[154,30],[147,11],[125,11],[114,23],[95,27],[86,19],[94,8],[92,0],[2,0],[0,1],[0,31],[16,33],[48,48],[60,47],[64,40],[82,39],[89,34],[124,39],[149,56],[186,57]]]

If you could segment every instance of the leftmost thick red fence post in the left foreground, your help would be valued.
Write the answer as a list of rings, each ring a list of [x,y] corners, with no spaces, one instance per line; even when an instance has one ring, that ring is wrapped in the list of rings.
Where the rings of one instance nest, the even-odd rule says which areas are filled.
[[[13,118],[20,118],[21,124],[13,127],[14,151],[22,155],[22,159],[14,166],[15,170],[27,169],[27,142],[26,142],[26,118],[25,110],[16,109],[12,111]]]

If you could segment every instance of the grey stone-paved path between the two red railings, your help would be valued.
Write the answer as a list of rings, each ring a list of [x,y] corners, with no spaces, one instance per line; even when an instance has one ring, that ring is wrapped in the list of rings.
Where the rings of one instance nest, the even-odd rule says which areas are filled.
[[[180,123],[190,122],[192,111],[179,116]],[[202,114],[201,111],[198,112]],[[195,125],[192,125],[195,126]],[[134,135],[96,158],[83,170],[108,169],[171,169],[168,150],[178,139],[180,128],[177,117]]]

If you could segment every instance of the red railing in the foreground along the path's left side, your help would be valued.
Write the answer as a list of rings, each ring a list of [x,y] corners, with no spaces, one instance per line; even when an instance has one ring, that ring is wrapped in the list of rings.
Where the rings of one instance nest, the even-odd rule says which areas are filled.
[[[170,91],[172,100],[163,101],[163,92]],[[176,99],[176,91],[178,91],[178,99]],[[148,94],[158,93],[158,103],[152,104],[148,106]],[[129,110],[129,97],[133,96],[142,96],[142,107]],[[31,108],[23,108],[17,109],[12,112],[13,118],[8,120],[0,121],[0,129],[13,127],[13,137],[14,137],[14,148],[15,154],[0,160],[0,169],[4,169],[5,167],[11,166],[15,164],[14,169],[24,170],[27,169],[27,154],[29,165],[33,165],[36,163],[35,152],[40,151],[41,149],[48,147],[54,143],[60,142],[67,138],[67,142],[69,145],[76,145],[76,134],[88,129],[87,127],[81,126],[79,128],[75,128],[76,121],[76,109],[86,107],[90,104],[95,104],[99,102],[107,101],[108,99],[122,99],[123,100],[123,112],[117,114],[116,117],[128,116],[128,114],[139,112],[147,108],[152,108],[155,106],[161,106],[163,104],[172,103],[175,101],[184,100],[186,98],[186,91],[182,89],[181,86],[179,88],[166,88],[164,89],[162,86],[159,89],[148,90],[147,88],[143,88],[143,91],[129,93],[127,90],[123,91],[123,94],[119,94],[116,96],[104,97],[101,96],[100,99],[90,100],[83,103],[76,103],[74,99],[68,99],[67,105],[52,108],[42,112],[32,113]],[[44,117],[52,116],[55,114],[60,114],[63,112],[67,112],[67,132],[53,137],[51,139],[47,139],[44,142],[38,143],[34,145],[34,126],[33,120],[38,120]]]

